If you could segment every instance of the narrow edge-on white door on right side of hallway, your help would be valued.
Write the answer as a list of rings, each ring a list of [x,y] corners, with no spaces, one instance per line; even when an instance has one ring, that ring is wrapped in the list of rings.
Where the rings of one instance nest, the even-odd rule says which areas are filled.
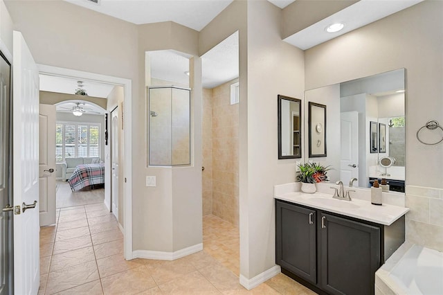
[[[118,107],[111,112],[111,202],[118,220]]]

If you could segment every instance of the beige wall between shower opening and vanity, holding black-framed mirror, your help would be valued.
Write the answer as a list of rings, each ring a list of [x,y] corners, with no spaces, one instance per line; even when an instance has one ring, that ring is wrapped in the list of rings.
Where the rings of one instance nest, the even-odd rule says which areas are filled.
[[[304,55],[282,41],[281,19],[282,10],[268,1],[248,2],[248,93],[239,110],[240,272],[246,278],[275,265],[273,186],[295,178],[295,161],[278,160],[276,109],[278,94],[303,97]],[[240,89],[241,78],[242,72]]]

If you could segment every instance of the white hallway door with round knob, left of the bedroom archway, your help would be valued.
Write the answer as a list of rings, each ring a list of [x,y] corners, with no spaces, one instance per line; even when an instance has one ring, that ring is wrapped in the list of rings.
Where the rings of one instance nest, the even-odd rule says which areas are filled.
[[[55,224],[55,105],[39,105],[40,226]]]

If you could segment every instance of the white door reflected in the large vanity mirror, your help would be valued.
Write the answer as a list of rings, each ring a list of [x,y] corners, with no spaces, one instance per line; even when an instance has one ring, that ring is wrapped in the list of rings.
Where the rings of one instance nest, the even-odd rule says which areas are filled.
[[[353,177],[359,177],[359,112],[345,111],[340,120],[340,179],[347,184]]]

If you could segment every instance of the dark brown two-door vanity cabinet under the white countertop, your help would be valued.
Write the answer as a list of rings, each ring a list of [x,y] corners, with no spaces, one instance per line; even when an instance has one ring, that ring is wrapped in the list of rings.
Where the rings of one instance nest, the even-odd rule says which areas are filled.
[[[390,240],[383,225],[278,199],[275,218],[276,263],[283,274],[320,294],[374,294],[383,240]]]

